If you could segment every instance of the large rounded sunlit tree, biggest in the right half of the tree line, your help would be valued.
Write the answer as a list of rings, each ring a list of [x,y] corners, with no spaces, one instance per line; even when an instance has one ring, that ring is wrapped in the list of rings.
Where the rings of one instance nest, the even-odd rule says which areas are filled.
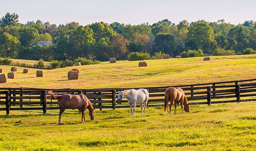
[[[212,53],[216,41],[212,27],[207,22],[194,22],[189,27],[186,47],[190,49],[203,49],[204,53]]]

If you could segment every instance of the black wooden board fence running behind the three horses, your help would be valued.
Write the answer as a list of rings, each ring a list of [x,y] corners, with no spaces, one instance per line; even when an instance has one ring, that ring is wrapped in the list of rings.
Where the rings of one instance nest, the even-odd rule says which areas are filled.
[[[168,87],[181,87],[189,102],[195,104],[229,103],[241,101],[256,101],[256,79],[240,81],[224,81],[206,84],[178,85]],[[164,92],[166,87],[145,87],[149,92],[148,106],[163,106]],[[130,88],[125,88],[130,89]],[[38,88],[0,88],[0,111],[6,111],[9,115],[10,110],[43,110],[59,109],[58,102],[47,101],[47,90]],[[116,93],[123,89],[52,89],[57,95],[65,93],[83,93],[93,103],[97,109],[116,109],[129,107],[126,100],[116,104]],[[247,97],[247,98],[244,98]],[[250,97],[250,98],[248,98]],[[234,98],[233,100],[215,101],[213,99]],[[244,99],[243,99],[244,98]],[[18,106],[17,106],[18,105]],[[12,107],[13,106],[13,107]]]

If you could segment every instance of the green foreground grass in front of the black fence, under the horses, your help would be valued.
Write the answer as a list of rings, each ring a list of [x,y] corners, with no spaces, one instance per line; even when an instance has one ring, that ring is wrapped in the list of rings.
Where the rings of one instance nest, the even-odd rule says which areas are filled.
[[[191,106],[163,113],[151,107],[132,117],[130,109],[96,111],[81,123],[77,110],[0,112],[0,150],[255,150],[256,102]]]

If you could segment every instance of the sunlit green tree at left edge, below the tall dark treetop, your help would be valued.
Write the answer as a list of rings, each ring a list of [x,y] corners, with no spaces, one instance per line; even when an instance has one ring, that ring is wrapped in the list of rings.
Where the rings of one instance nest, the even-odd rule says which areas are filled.
[[[0,35],[0,57],[16,58],[18,56],[20,42],[15,37],[8,33]]]

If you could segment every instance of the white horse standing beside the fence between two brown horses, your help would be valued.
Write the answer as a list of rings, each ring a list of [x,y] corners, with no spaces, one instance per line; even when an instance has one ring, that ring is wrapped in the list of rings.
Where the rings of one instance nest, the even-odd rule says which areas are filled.
[[[146,113],[146,107],[148,103],[148,90],[146,89],[129,89],[124,91],[118,91],[118,97],[116,103],[121,104],[123,98],[127,98],[128,104],[131,108],[131,116],[135,114],[136,104],[140,104],[141,114],[143,114],[143,102],[144,102],[144,114]],[[134,114],[132,112],[132,105],[134,107]]]

